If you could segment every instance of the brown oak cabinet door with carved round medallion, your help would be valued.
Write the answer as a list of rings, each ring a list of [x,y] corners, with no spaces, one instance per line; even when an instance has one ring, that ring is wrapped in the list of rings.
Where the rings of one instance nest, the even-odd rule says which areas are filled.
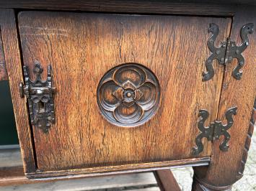
[[[207,47],[210,23],[220,27],[217,43],[229,36],[231,19],[221,17],[19,13],[23,63],[35,76],[32,69],[40,62],[43,79],[51,65],[56,87],[56,123],[48,133],[32,126],[37,169],[101,172],[211,156],[208,141],[203,152],[192,154],[199,133],[198,112],[211,113],[207,123],[216,119],[224,73],[224,67],[214,63],[214,77],[202,81],[205,60],[211,54]],[[141,79],[150,81],[151,90],[145,88],[140,90],[143,95],[134,96],[153,96],[151,113],[133,108],[129,101],[120,113],[107,113],[104,107],[102,111],[102,99],[111,102],[122,95],[114,96],[117,88],[111,89],[113,84],[106,80],[113,75],[112,82],[119,80],[119,86],[131,89],[136,86],[134,90]],[[104,83],[110,87],[105,88],[106,94],[97,92]],[[138,116],[140,121],[131,113],[145,116]],[[130,124],[125,125],[125,117],[132,118]]]

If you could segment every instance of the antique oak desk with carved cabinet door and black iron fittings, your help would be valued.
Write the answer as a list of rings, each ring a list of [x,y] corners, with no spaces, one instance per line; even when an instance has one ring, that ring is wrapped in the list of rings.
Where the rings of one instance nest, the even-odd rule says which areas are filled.
[[[162,169],[193,166],[193,190],[230,190],[242,177],[256,115],[255,1],[0,8],[0,78],[27,178],[154,171],[175,190]]]

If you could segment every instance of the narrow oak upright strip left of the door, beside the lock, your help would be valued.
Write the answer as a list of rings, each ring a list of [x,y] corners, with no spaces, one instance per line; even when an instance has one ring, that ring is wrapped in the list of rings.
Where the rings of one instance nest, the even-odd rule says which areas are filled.
[[[22,63],[19,55],[15,15],[12,9],[0,10],[0,26],[24,169],[25,172],[35,172],[35,161],[26,101],[19,97],[19,82],[23,81]]]

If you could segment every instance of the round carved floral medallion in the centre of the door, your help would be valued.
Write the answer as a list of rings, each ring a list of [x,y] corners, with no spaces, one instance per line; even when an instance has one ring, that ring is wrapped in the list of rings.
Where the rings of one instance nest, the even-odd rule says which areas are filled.
[[[156,76],[135,63],[112,68],[97,88],[97,102],[102,116],[117,126],[144,124],[156,113],[159,99]]]

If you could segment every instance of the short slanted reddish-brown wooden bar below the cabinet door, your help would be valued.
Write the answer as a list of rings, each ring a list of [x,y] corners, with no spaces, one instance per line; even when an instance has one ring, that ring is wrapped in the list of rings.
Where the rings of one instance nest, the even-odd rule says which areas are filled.
[[[153,172],[161,191],[180,191],[175,177],[170,169],[159,169]]]

